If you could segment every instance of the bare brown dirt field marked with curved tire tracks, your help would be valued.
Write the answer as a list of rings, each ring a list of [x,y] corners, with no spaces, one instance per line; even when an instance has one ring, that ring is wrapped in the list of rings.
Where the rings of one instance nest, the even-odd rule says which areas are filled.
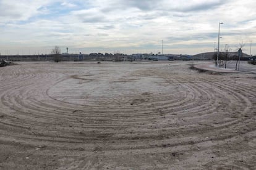
[[[193,63],[0,68],[0,169],[255,169],[256,75]]]

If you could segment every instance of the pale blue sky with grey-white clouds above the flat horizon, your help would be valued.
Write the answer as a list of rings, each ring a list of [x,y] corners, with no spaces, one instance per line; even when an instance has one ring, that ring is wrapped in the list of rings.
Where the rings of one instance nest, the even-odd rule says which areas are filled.
[[[255,0],[0,0],[0,53],[256,54]]]

